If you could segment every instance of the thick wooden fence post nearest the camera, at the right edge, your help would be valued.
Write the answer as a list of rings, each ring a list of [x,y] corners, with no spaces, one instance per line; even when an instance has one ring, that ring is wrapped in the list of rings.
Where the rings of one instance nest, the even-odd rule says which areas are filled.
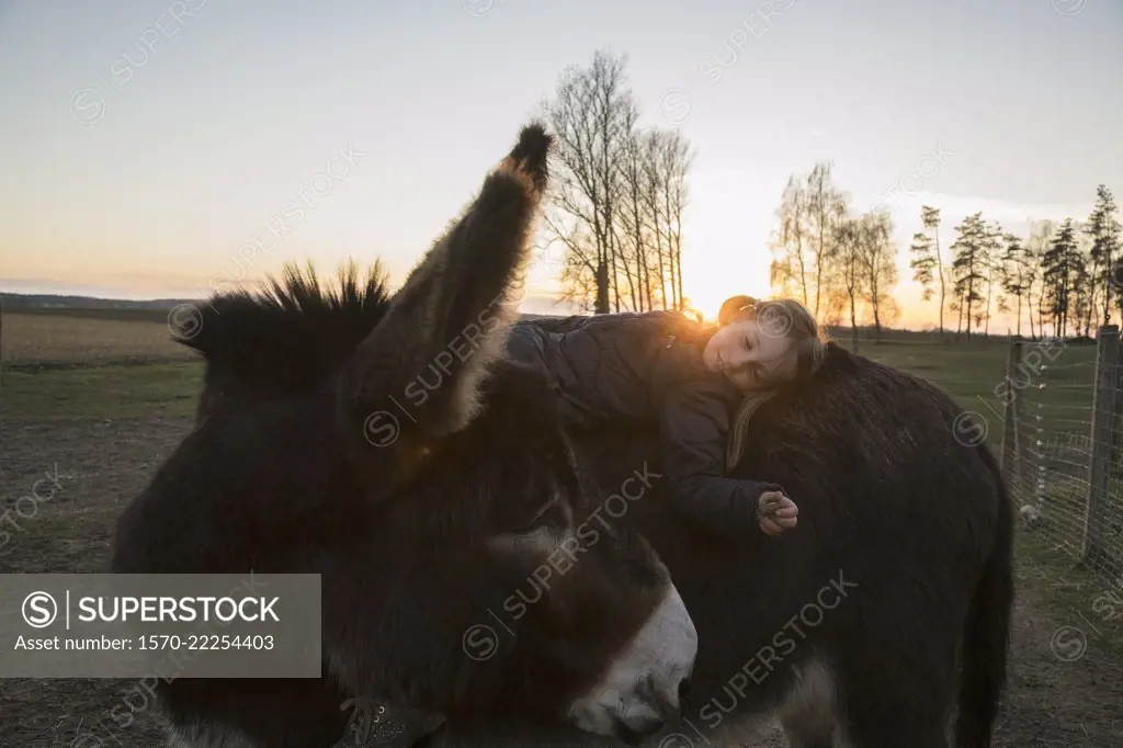
[[[1088,462],[1088,500],[1084,517],[1080,558],[1095,564],[1104,544],[1104,510],[1111,482],[1119,390],[1120,329],[1105,325],[1096,331],[1096,389],[1092,396],[1092,459]]]

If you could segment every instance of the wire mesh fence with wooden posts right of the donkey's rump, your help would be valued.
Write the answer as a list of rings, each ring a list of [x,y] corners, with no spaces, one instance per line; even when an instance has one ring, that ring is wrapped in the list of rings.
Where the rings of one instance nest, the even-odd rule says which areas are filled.
[[[1028,527],[1123,586],[1123,359],[1094,345],[1011,344],[1003,467]]]

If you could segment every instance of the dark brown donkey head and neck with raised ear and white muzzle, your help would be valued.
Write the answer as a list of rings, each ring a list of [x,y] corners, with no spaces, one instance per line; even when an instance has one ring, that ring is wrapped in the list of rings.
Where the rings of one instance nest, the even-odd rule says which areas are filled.
[[[697,633],[642,538],[605,527],[517,598],[596,498],[546,384],[500,356],[549,149],[524,128],[393,297],[377,268],[336,292],[290,272],[180,331],[207,361],[195,428],[120,517],[112,571],[320,574],[323,660],[161,682],[174,745],[332,746],[353,699],[629,740],[676,714]]]

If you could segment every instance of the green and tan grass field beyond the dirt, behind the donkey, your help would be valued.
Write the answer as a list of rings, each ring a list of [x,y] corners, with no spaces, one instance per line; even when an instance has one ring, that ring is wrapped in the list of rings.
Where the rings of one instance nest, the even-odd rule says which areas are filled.
[[[156,316],[164,317],[154,320],[148,310],[94,310],[90,317],[77,310],[46,311],[4,314],[0,375],[9,393],[8,416],[111,418],[191,411],[201,364],[194,352],[174,341],[163,323],[164,312],[157,310]],[[940,344],[930,335],[915,337],[920,341],[900,335],[880,344],[861,341],[859,353],[940,385],[965,410],[986,419],[988,443],[999,445],[1004,413],[998,393],[1010,343],[992,338]],[[848,337],[839,344],[850,347]],[[1026,350],[1033,346],[1026,344]],[[1030,410],[1043,414],[1039,427],[1044,431],[1077,430],[1081,423],[1070,422],[1074,413],[1092,404],[1095,347],[1056,347],[1050,356],[1048,368],[1023,370],[1032,381],[1026,389]],[[1046,389],[1037,389],[1039,384]]]

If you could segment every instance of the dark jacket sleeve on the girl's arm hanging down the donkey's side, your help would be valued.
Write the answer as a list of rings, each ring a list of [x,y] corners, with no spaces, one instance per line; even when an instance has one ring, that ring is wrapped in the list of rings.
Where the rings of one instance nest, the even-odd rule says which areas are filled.
[[[760,535],[757,501],[775,483],[725,477],[729,400],[707,389],[686,386],[663,403],[663,469],[675,510],[700,529],[738,539]]]

